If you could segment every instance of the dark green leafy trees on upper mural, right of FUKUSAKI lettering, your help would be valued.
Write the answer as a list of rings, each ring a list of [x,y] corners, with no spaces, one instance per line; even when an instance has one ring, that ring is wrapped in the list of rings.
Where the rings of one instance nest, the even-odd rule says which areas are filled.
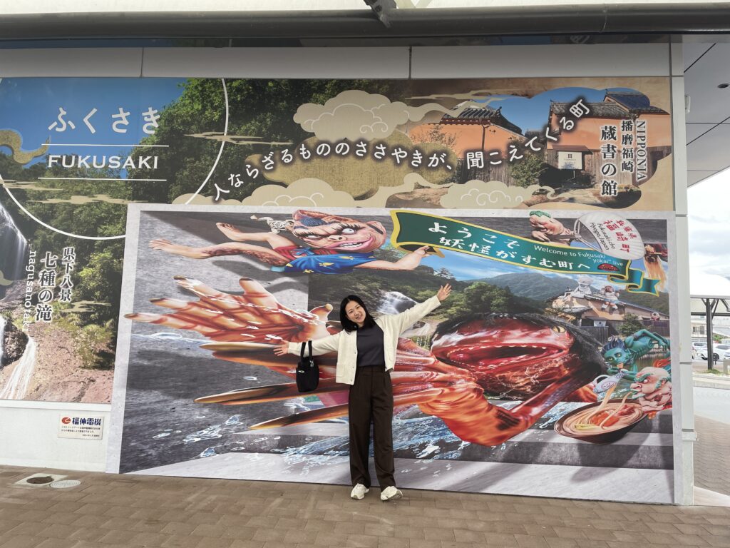
[[[166,186],[145,183],[134,189],[133,199],[169,203],[181,194],[198,189],[207,178],[220,150],[220,141],[191,137],[205,132],[222,133],[226,123],[226,99],[220,80],[192,78],[183,84],[183,94],[161,112],[160,126],[143,145],[166,144],[170,148],[135,149],[139,153],[159,157],[160,172]],[[237,199],[251,194],[266,183],[262,175],[251,180],[245,174],[245,159],[254,153],[265,153],[285,145],[265,142],[301,142],[310,133],[293,121],[293,114],[305,103],[323,104],[342,91],[361,89],[383,94],[391,101],[405,99],[405,83],[386,80],[226,80],[228,92],[229,136],[255,137],[240,141],[261,140],[262,144],[226,144],[218,160],[211,182],[228,183],[228,174],[240,173],[247,181],[236,189]],[[290,147],[291,148],[291,145]],[[134,178],[134,170],[131,177]]]

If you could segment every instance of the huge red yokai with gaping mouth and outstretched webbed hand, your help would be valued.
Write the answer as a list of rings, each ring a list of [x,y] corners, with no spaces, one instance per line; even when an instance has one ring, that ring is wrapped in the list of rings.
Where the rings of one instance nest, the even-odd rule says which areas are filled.
[[[297,357],[274,357],[281,341],[302,342],[337,332],[327,323],[332,310],[322,305],[310,312],[277,302],[257,281],[242,278],[242,295],[219,292],[200,281],[177,278],[199,300],[156,299],[171,308],[160,315],[133,313],[136,321],[194,330],[210,338],[202,348],[231,362],[263,365],[293,376]],[[438,416],[464,441],[502,444],[533,425],[560,401],[595,402],[586,385],[605,363],[600,344],[572,324],[537,314],[480,314],[442,322],[423,349],[407,338],[399,340],[396,368],[391,373],[395,406],[416,404]],[[320,384],[312,395],[324,408],[283,416],[252,428],[317,422],[347,414],[347,385],[334,381],[336,358],[320,357]],[[485,392],[523,400],[511,409],[495,406]],[[241,405],[299,397],[296,383],[275,384],[199,397],[199,403]]]

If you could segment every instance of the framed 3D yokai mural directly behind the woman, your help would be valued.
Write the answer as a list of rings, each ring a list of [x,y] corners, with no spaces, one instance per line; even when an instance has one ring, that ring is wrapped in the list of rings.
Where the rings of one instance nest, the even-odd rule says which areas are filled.
[[[109,469],[348,484],[336,358],[301,395],[273,349],[448,281],[399,343],[399,485],[671,503],[668,218],[131,206]]]

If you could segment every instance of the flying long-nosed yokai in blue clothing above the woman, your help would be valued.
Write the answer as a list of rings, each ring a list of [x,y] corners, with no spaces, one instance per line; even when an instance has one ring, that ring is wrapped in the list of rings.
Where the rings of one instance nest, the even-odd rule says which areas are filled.
[[[217,223],[220,232],[233,242],[194,248],[158,239],[152,240],[150,247],[190,259],[248,255],[272,265],[272,270],[277,272],[320,274],[346,274],[355,268],[413,270],[420,265],[428,249],[423,246],[396,262],[385,261],[373,254],[388,239],[385,227],[378,221],[363,222],[307,210],[294,212],[291,221],[278,224],[276,230],[270,232],[242,232],[232,224]],[[288,229],[306,246],[280,235],[283,229]],[[267,243],[271,249],[245,242]]]

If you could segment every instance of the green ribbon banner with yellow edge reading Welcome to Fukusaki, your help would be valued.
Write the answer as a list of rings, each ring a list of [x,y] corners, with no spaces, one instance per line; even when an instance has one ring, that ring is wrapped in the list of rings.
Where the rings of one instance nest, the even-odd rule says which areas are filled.
[[[536,242],[430,213],[393,210],[391,216],[391,243],[398,249],[431,246],[437,254],[447,249],[549,272],[607,275],[610,281],[625,284],[629,292],[658,294],[658,280],[645,279],[642,270],[631,268],[631,261],[601,251]]]

